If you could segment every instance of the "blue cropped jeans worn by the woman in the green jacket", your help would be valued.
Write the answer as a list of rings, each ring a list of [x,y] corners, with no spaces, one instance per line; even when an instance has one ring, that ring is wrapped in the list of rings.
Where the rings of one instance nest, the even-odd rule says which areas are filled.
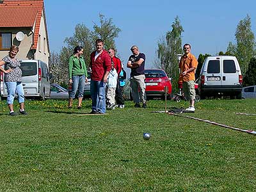
[[[69,98],[74,99],[76,97],[77,88],[79,88],[78,97],[84,97],[85,76],[72,76],[72,81],[72,90],[70,92]]]

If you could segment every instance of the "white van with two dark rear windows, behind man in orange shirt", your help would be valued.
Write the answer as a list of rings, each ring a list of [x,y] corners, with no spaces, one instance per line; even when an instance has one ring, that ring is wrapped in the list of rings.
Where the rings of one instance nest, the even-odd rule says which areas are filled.
[[[198,81],[201,99],[228,95],[241,99],[243,76],[235,56],[209,56],[205,59]]]

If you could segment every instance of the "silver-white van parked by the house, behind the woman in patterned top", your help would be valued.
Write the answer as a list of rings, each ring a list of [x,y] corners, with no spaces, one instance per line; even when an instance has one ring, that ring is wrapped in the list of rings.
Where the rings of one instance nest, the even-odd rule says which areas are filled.
[[[47,64],[40,60],[20,60],[25,97],[50,97],[50,77]],[[4,73],[1,72],[1,97],[7,97]]]

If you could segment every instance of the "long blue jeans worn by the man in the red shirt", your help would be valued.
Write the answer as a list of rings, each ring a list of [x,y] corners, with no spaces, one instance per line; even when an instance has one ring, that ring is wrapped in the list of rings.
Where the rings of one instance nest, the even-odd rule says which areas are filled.
[[[91,79],[92,111],[106,113],[106,83]]]

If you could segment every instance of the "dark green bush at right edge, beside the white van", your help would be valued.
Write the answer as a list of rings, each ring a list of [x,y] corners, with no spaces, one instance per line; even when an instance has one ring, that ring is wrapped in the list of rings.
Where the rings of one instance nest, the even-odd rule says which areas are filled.
[[[243,78],[243,86],[251,86],[256,84],[256,58],[250,60],[248,70]]]

